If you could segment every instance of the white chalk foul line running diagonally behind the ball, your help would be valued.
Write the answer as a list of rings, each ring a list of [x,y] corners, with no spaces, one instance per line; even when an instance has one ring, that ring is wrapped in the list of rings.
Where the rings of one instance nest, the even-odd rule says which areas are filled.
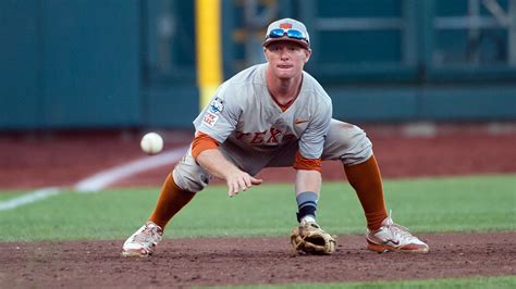
[[[163,165],[169,165],[177,162],[184,155],[188,147],[175,149],[163,152],[150,158],[143,158],[126,164],[109,168],[107,171],[95,174],[90,177],[79,180],[74,189],[79,192],[95,192],[99,191],[111,184],[123,178],[136,175],[138,173],[157,168]],[[34,203],[45,200],[52,196],[57,196],[63,191],[64,188],[49,187],[37,189],[33,192],[16,197],[11,200],[0,202],[0,212],[12,210],[24,204]]]

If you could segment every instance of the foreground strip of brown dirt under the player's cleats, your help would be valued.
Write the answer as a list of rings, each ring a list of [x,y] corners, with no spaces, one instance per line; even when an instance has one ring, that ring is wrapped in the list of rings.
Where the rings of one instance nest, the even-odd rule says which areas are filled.
[[[0,243],[3,288],[193,286],[407,280],[516,274],[516,233],[421,235],[429,254],[367,251],[341,236],[330,256],[292,256],[287,239],[164,240],[148,259],[121,241]]]

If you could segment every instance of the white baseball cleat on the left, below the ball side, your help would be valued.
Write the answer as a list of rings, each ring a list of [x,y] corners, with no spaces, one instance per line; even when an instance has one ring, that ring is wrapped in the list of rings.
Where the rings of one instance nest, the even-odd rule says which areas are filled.
[[[147,222],[124,242],[123,256],[149,256],[161,241],[163,229],[152,222]]]

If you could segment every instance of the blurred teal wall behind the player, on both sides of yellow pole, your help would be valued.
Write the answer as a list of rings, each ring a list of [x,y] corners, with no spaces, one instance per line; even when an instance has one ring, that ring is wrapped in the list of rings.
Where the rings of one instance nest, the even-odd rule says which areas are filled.
[[[218,1],[218,0],[213,0]],[[516,121],[516,0],[220,0],[223,75],[303,21],[351,122]],[[191,128],[196,1],[3,0],[0,129]]]

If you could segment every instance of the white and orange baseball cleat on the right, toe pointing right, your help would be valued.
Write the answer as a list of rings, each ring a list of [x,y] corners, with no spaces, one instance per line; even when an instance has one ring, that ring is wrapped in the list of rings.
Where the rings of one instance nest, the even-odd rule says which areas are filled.
[[[378,252],[428,253],[428,244],[413,236],[407,228],[394,224],[391,216],[382,222],[377,230],[367,231],[367,249]]]

